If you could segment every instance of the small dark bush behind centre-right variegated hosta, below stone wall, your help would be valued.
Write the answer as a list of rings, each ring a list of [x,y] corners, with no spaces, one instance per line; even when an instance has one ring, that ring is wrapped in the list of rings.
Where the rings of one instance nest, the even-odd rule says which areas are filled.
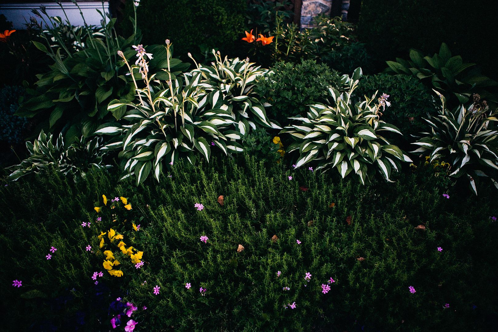
[[[372,68],[372,57],[360,42],[346,44],[321,57],[321,61],[342,74],[351,74],[358,67],[368,73]]]

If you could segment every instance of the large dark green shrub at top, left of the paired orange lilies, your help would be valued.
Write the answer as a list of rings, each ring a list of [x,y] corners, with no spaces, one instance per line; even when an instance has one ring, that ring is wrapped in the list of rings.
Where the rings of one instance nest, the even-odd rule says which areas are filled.
[[[247,0],[144,0],[137,7],[137,24],[145,43],[170,39],[181,58],[196,55],[202,44],[226,52],[244,34],[246,6]]]

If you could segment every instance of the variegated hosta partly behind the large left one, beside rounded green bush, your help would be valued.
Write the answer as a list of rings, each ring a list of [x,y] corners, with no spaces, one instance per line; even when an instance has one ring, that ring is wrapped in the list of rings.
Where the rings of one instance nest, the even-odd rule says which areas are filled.
[[[255,80],[268,74],[268,69],[255,66],[249,62],[249,58],[222,59],[220,52],[214,50],[213,54],[216,62],[211,63],[211,66],[196,63],[197,69],[187,74],[189,77],[199,73],[202,75],[198,84],[203,89],[199,107],[230,111],[234,126],[243,135],[249,133],[250,128],[255,129],[256,125],[281,129],[277,123],[268,119],[264,106],[253,92]]]

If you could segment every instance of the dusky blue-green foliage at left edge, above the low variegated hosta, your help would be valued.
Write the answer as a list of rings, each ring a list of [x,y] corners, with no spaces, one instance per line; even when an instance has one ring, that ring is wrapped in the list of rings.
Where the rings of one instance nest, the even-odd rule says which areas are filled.
[[[0,89],[0,140],[9,144],[20,143],[27,124],[25,117],[13,115],[24,88],[5,86]]]

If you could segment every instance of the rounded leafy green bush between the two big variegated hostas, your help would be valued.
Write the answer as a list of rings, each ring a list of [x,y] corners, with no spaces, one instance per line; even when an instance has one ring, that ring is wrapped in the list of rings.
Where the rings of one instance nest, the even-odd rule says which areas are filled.
[[[298,65],[278,62],[271,71],[267,79],[257,81],[255,92],[271,104],[267,113],[281,125],[289,122],[289,116],[305,115],[306,105],[322,102],[327,97],[327,87],[342,85],[337,71],[314,60]]]

